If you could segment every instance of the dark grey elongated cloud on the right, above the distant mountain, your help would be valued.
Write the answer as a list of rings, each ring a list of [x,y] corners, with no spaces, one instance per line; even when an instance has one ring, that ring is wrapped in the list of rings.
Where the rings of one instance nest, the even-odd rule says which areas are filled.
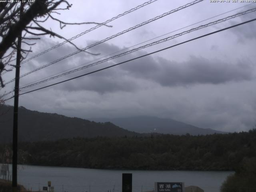
[[[121,68],[129,71],[131,76],[146,78],[162,86],[221,84],[253,78],[253,66],[247,62],[230,64],[195,56],[191,56],[186,62],[172,62],[149,56],[131,64],[124,64]]]

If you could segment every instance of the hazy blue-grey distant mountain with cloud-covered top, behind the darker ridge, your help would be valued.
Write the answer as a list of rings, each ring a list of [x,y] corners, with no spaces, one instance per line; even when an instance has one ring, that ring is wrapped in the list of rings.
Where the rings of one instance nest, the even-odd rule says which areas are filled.
[[[163,133],[163,134],[186,134],[206,135],[214,133],[226,133],[213,129],[199,128],[190,124],[179,122],[172,119],[164,119],[150,116],[138,116],[127,118],[94,118],[95,122],[112,122],[124,129],[138,133]]]

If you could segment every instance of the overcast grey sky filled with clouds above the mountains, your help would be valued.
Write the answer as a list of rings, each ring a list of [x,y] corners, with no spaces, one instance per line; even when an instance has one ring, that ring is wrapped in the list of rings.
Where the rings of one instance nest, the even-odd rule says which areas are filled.
[[[95,54],[100,53],[98,56],[81,52],[33,72],[20,79],[20,86],[82,64],[88,64],[88,62],[92,63],[92,60],[125,48],[128,49],[121,52],[256,7],[256,3],[249,5],[250,3],[230,1],[229,3],[212,3],[210,0],[204,0],[184,8],[88,50]],[[72,8],[61,12],[62,14],[56,17],[66,22],[104,22],[144,3],[143,0],[75,0],[70,2],[73,4]],[[110,22],[109,25],[112,25],[112,28],[102,26],[72,42],[84,48],[189,2],[192,1],[158,0]],[[239,8],[242,6],[245,7]],[[236,8],[239,9],[234,10]],[[200,22],[224,12],[228,13]],[[23,89],[21,93],[160,50],[253,18],[256,18],[255,12],[38,86]],[[194,24],[197,22],[200,23]],[[191,24],[194,25],[189,26]],[[60,30],[58,22],[49,21],[45,23],[45,26],[66,38],[71,38],[95,25],[66,26]],[[183,29],[178,30],[180,28]],[[172,32],[174,30],[177,31]],[[157,38],[158,36],[162,37]],[[150,40],[153,38],[156,39]],[[148,40],[150,41],[142,43]],[[33,53],[28,58],[62,41],[46,36],[33,46]],[[139,43],[142,44],[136,45]],[[256,124],[255,45],[256,22],[254,21],[76,80],[24,94],[20,96],[19,106],[84,119],[146,115],[172,118],[220,131],[248,131]],[[134,47],[130,48],[131,46]],[[75,51],[76,48],[71,44],[64,44],[23,64],[20,74],[25,74]],[[14,72],[6,73],[3,78],[6,82],[11,80],[14,78]],[[14,84],[10,83],[0,91],[8,92],[13,90],[13,86]],[[13,102],[13,100],[8,100],[6,104],[13,105]]]

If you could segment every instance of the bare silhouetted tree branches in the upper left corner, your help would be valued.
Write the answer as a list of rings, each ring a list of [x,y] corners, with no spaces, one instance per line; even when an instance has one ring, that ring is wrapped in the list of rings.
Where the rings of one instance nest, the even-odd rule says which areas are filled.
[[[71,6],[72,4],[67,0],[0,2],[0,62],[6,66],[14,58],[20,32],[23,32],[22,44],[26,44],[24,46],[26,48],[21,48],[21,60],[26,58],[29,52],[32,52],[31,46],[35,44],[34,40],[40,39],[39,36],[56,36],[68,41],[60,34],[42,26],[42,23],[47,20],[58,22],[61,29],[66,25],[99,24],[96,22],[68,23],[55,17],[56,14],[68,10]],[[72,42],[68,42],[78,48]]]

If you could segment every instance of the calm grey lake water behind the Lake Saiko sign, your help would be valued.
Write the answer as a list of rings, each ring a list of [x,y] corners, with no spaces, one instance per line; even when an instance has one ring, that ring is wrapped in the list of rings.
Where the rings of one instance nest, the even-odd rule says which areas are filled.
[[[42,191],[51,181],[54,192],[121,192],[122,173],[132,173],[133,192],[153,190],[154,182],[184,182],[205,192],[218,192],[233,172],[214,171],[140,171],[97,170],[84,168],[18,166],[18,183]]]

